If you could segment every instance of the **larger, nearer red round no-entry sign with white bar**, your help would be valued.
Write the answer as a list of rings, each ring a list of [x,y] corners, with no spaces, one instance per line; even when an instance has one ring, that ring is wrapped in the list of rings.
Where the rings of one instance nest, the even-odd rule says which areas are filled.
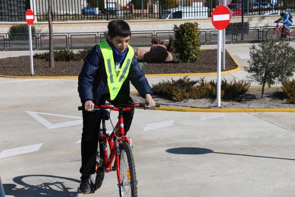
[[[225,29],[231,21],[231,13],[228,7],[223,5],[217,6],[213,10],[211,21],[217,30]]]

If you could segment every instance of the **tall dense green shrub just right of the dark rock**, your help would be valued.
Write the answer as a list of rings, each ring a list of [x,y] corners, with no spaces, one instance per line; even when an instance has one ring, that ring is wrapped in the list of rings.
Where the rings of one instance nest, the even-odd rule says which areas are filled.
[[[181,62],[196,62],[199,59],[200,30],[198,23],[174,25],[174,47]]]

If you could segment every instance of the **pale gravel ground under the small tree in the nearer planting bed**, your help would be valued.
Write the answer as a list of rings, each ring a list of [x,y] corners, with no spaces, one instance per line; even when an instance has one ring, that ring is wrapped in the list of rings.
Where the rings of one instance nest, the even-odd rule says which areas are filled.
[[[131,93],[134,102],[144,102],[138,93]],[[177,102],[169,99],[154,96],[156,103],[164,107],[184,107],[184,108],[218,108],[216,99],[185,99]],[[286,98],[281,88],[268,88],[265,90],[264,98],[261,99],[261,89],[249,89],[249,91],[235,100],[221,101],[223,109],[245,109],[245,108],[295,108],[295,104],[286,102]]]

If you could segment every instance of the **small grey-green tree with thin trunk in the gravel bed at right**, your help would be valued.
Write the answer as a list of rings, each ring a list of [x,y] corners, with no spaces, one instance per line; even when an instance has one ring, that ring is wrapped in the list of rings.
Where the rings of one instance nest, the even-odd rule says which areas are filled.
[[[250,48],[249,72],[250,78],[262,85],[263,98],[264,89],[267,85],[277,82],[284,82],[293,76],[295,71],[295,49],[289,46],[288,42],[278,42],[274,40],[262,42],[258,47],[253,45]]]

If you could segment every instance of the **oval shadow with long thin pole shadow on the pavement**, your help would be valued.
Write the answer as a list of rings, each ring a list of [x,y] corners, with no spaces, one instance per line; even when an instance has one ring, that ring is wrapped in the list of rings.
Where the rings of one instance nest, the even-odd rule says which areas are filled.
[[[167,149],[166,152],[172,153],[172,154],[180,154],[180,155],[202,155],[202,154],[214,153],[214,154],[224,154],[224,155],[237,155],[237,156],[246,156],[246,157],[258,157],[258,158],[267,158],[267,159],[295,161],[295,159],[290,159],[290,158],[266,157],[266,156],[259,156],[259,155],[245,155],[245,154],[236,154],[236,153],[221,153],[221,152],[214,152],[207,148],[195,148],[195,147],[170,148],[170,149]]]

